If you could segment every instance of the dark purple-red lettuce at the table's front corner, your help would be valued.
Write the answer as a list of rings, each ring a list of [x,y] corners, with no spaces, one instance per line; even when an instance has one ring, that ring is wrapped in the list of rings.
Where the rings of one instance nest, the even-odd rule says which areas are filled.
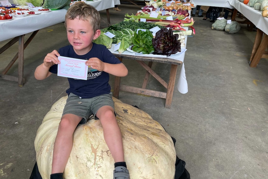
[[[162,28],[155,34],[152,40],[155,52],[153,54],[167,55],[176,54],[181,51],[181,42],[179,35],[174,34],[172,29]]]

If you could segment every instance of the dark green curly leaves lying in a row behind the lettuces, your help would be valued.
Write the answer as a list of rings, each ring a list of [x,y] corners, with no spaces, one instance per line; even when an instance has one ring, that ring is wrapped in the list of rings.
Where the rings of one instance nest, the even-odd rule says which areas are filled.
[[[157,25],[157,24],[151,24],[147,22],[142,21],[135,21],[135,19],[125,19],[124,21],[119,22],[118,24],[114,24],[112,26],[108,27],[108,30],[115,30],[115,31],[122,31],[122,29],[131,29],[132,31],[135,31],[136,29],[151,29],[158,26],[160,29],[163,28],[163,26]]]

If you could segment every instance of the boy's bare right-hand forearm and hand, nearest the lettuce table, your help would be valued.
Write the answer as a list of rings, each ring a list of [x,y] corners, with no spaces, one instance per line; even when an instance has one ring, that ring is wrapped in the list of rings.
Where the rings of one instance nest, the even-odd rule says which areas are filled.
[[[112,74],[118,77],[127,76],[128,70],[124,64],[109,64],[101,61],[98,58],[90,58],[85,62],[86,65],[91,66],[92,68],[98,71],[104,71],[106,73]]]

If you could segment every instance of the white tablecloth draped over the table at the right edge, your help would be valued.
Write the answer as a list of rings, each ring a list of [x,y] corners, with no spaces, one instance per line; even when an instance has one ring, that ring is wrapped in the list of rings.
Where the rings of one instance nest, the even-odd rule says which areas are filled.
[[[241,12],[249,21],[251,21],[258,29],[268,35],[268,17],[263,17],[261,11],[255,10],[243,2],[238,0],[228,1],[238,12]]]

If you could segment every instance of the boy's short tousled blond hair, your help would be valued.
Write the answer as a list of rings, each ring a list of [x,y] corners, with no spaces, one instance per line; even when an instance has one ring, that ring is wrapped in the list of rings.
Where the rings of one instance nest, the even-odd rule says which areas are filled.
[[[95,7],[86,4],[84,2],[79,2],[73,4],[65,15],[65,27],[67,19],[75,19],[78,18],[83,21],[89,21],[91,26],[93,27],[93,31],[96,32],[100,27],[100,15],[99,12],[95,9]]]

